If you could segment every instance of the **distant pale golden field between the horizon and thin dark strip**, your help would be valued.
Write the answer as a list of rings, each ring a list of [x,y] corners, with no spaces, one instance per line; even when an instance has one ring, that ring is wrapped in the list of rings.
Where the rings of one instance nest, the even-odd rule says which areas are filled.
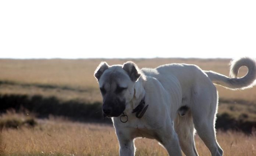
[[[230,59],[50,59],[50,60],[12,60],[0,59],[0,81],[15,84],[58,86],[62,88],[83,89],[87,91],[89,100],[100,101],[100,92],[93,73],[102,61],[109,65],[123,64],[132,60],[140,68],[155,68],[167,63],[196,64],[203,70],[213,70],[229,75]],[[239,76],[246,74],[247,69],[241,68]],[[22,92],[20,89],[0,88],[0,93]],[[13,86],[12,86],[13,87]],[[14,90],[14,91],[13,91]],[[40,92],[35,90],[35,92]],[[256,87],[242,91],[232,91],[218,87],[219,96],[223,99],[239,99],[249,102],[256,101]],[[85,97],[84,97],[85,98]]]

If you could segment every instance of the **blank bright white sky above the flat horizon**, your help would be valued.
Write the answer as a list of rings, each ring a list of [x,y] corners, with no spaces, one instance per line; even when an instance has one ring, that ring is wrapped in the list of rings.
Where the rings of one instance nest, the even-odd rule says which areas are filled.
[[[255,0],[1,0],[0,58],[256,58]]]

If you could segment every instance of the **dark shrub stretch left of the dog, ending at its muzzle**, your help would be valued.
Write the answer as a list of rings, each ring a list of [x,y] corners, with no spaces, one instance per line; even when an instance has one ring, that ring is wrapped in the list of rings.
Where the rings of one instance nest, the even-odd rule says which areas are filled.
[[[80,101],[62,102],[56,97],[43,97],[40,95],[27,96],[19,94],[0,95],[0,112],[8,109],[20,111],[26,109],[33,112],[39,118],[47,118],[49,115],[64,116],[72,120],[110,122],[103,119],[101,103],[82,103]]]

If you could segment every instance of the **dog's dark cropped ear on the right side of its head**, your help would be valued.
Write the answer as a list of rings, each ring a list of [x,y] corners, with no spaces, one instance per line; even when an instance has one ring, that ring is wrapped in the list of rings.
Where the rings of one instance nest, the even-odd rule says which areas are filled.
[[[134,82],[137,81],[138,78],[141,76],[141,74],[139,73],[140,70],[134,62],[128,61],[124,63],[122,68],[127,72],[131,80]]]

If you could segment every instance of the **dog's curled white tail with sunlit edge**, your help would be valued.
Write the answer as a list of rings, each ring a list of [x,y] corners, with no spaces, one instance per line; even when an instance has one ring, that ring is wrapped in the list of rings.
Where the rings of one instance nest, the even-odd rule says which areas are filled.
[[[249,57],[242,57],[232,60],[230,63],[230,77],[216,73],[214,71],[204,71],[211,81],[217,85],[224,86],[229,89],[246,89],[255,85],[256,79],[256,61]],[[248,73],[241,78],[237,78],[240,67],[246,66]]]

